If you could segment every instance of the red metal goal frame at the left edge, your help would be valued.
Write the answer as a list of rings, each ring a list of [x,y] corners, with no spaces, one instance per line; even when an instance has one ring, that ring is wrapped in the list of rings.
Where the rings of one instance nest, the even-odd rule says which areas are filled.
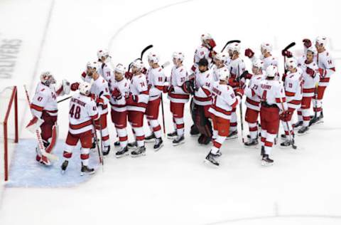
[[[8,137],[8,127],[7,121],[9,120],[9,113],[11,112],[11,108],[14,103],[14,142],[18,143],[18,88],[13,86],[13,90],[11,93],[11,99],[9,100],[9,105],[7,107],[6,116],[4,118],[4,174],[5,174],[5,182],[9,180],[9,137]]]

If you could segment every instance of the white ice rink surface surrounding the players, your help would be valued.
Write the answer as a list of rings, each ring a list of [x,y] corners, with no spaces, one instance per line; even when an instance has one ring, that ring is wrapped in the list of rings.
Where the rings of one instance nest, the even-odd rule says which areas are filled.
[[[22,40],[15,75],[0,80],[0,90],[18,85],[21,139],[33,139],[23,128],[31,117],[23,84],[32,95],[43,70],[58,80],[79,80],[98,48],[109,49],[113,64],[127,64],[152,43],[162,62],[171,61],[173,51],[183,51],[189,69],[203,32],[212,34],[218,49],[238,38],[244,48],[259,52],[259,44],[270,41],[278,57],[291,41],[300,54],[302,38],[325,35],[337,73],[325,94],[325,122],[296,138],[301,150],[275,147],[273,167],[261,167],[259,150],[244,148],[240,137],[224,143],[219,169],[202,164],[210,147],[197,145],[188,134],[188,110],[186,142],[180,147],[166,140],[159,152],[147,145],[146,157],[115,159],[111,154],[104,172],[77,187],[1,183],[0,224],[341,224],[339,9],[338,1],[308,0],[1,1],[0,39]],[[168,100],[164,105],[171,131]],[[63,142],[68,104],[58,107]],[[33,159],[34,152],[28,160]]]

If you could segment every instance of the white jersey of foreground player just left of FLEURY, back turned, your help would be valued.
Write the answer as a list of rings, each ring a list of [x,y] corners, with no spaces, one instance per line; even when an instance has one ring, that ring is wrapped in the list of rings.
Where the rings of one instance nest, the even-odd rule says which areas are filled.
[[[234,95],[233,88],[220,84],[219,81],[213,83],[211,90],[213,103],[208,111],[217,117],[229,120],[232,110],[237,107],[240,98],[238,99]]]

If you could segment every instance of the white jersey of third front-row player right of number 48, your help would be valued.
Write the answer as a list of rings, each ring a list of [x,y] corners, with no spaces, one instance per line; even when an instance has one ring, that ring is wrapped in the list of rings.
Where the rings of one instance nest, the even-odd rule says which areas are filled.
[[[126,106],[127,110],[146,112],[149,100],[146,75],[144,74],[133,75],[130,83],[130,94],[137,95],[138,100],[137,103],[131,103],[130,105],[127,105]]]

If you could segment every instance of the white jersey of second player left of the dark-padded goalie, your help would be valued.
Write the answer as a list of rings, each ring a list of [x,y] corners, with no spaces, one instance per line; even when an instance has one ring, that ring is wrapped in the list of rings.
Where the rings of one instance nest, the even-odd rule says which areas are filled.
[[[147,84],[149,88],[149,100],[156,100],[160,98],[163,92],[163,85],[166,81],[166,76],[163,68],[149,68],[146,75]]]

